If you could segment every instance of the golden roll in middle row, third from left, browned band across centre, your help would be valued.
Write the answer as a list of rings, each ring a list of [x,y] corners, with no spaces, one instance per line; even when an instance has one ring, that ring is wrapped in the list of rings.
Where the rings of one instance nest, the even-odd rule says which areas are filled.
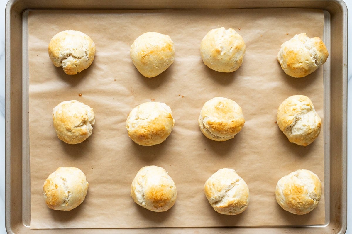
[[[234,138],[244,122],[241,107],[225,97],[214,97],[204,103],[198,119],[202,133],[216,141]]]

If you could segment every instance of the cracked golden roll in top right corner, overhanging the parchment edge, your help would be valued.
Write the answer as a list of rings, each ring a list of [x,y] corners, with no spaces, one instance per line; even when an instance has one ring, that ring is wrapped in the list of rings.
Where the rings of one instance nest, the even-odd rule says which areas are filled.
[[[306,33],[300,33],[281,45],[277,61],[287,75],[304,77],[325,63],[328,56],[319,37],[309,38]]]

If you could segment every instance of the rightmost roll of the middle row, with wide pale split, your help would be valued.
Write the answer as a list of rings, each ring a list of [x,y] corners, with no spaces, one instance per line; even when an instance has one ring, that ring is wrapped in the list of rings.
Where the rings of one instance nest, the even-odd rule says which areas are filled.
[[[312,101],[304,95],[284,100],[277,110],[277,125],[290,142],[307,146],[319,135],[321,119]]]

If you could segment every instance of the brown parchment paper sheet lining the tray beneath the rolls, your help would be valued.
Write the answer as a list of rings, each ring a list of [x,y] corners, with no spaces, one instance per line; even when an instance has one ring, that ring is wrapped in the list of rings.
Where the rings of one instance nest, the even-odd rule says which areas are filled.
[[[241,67],[230,74],[207,68],[200,41],[214,28],[235,29],[245,40]],[[323,67],[305,78],[284,74],[276,61],[280,45],[297,33],[323,35],[323,12],[307,9],[31,11],[29,27],[29,118],[31,228],[137,228],[282,226],[323,224],[324,194],[316,209],[293,215],[275,200],[284,175],[308,169],[324,184],[323,132],[309,146],[290,143],[279,130],[276,112],[290,95],[310,97],[323,120]],[[52,36],[62,30],[88,34],[96,44],[93,64],[66,75],[48,56]],[[155,78],[133,66],[130,46],[140,34],[168,34],[175,62]],[[223,96],[243,109],[245,125],[234,139],[207,139],[198,126],[207,100]],[[78,145],[59,140],[52,108],[67,100],[94,109],[93,134]],[[140,103],[164,102],[176,120],[162,144],[139,146],[128,136],[125,121]],[[155,213],[133,202],[130,185],[146,165],[164,167],[174,179],[177,201]],[[46,207],[43,183],[59,166],[75,166],[87,176],[86,200],[71,211]],[[250,190],[249,207],[239,215],[218,214],[203,186],[218,169],[235,169]]]

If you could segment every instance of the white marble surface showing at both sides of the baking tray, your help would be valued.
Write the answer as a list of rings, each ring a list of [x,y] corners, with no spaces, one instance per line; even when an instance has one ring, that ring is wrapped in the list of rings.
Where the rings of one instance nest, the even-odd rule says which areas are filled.
[[[345,0],[351,14],[348,17],[348,25],[352,25],[352,0]],[[0,233],[5,230],[5,6],[7,0],[0,0]],[[348,32],[348,122],[352,121],[352,30]],[[352,124],[348,125],[348,139],[351,139]],[[348,194],[352,197],[352,159],[351,140],[348,141]],[[348,200],[348,225],[347,232],[352,234],[352,198]]]

